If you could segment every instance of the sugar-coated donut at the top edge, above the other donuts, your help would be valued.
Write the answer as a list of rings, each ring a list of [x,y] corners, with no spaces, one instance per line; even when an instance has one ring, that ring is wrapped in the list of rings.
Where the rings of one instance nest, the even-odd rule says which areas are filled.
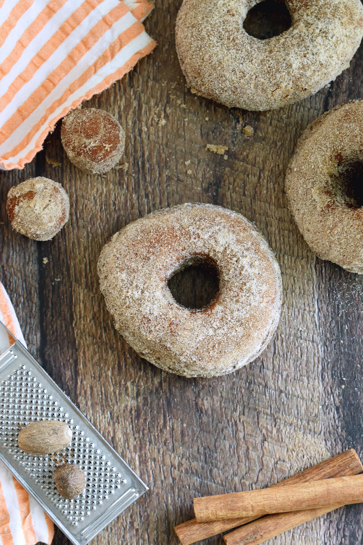
[[[270,110],[305,98],[348,68],[363,35],[360,0],[286,0],[292,25],[259,40],[243,28],[261,0],[184,0],[176,49],[192,92]]]

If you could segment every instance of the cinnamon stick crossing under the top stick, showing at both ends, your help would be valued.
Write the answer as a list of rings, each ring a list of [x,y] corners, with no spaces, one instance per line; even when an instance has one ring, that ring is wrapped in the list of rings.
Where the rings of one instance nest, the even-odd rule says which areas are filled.
[[[363,471],[363,465],[361,464],[357,453],[354,449],[349,449],[333,458],[320,462],[297,475],[293,475],[284,481],[280,481],[273,486],[293,485],[298,482],[329,479],[330,477],[340,477],[344,475],[356,475],[361,471]],[[194,518],[175,526],[174,530],[182,545],[191,545],[196,541],[204,540],[207,537],[215,536],[226,530],[241,526],[242,524],[247,524],[251,522],[251,520],[255,520],[255,517],[214,520],[212,522],[197,522]],[[238,530],[235,530],[235,532],[237,531]],[[231,532],[227,535],[230,536],[235,532]]]

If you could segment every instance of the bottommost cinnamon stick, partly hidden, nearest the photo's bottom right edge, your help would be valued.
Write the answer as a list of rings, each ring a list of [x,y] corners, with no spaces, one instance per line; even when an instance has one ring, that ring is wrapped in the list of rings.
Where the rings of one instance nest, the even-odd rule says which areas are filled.
[[[334,511],[339,507],[341,505],[293,511],[292,513],[268,514],[266,517],[254,520],[254,522],[245,524],[241,528],[224,535],[223,539],[226,545],[259,545],[272,537],[284,534],[287,530],[321,517],[323,514]]]

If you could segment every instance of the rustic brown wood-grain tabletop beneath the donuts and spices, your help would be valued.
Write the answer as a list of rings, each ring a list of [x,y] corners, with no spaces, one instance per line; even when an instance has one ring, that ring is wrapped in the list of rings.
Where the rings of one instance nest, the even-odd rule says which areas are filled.
[[[29,350],[150,486],[96,538],[99,545],[176,545],[173,525],[193,517],[194,495],[266,487],[347,447],[363,454],[363,278],[313,255],[284,194],[302,131],[362,96],[363,49],[315,96],[276,111],[229,110],[184,87],[174,43],[180,4],[156,1],[145,22],[158,41],[155,52],[84,104],[120,120],[127,168],[85,175],[67,159],[58,126],[23,171],[1,173],[0,278]],[[245,125],[254,136],[244,136]],[[208,143],[227,146],[227,159],[207,151]],[[71,201],[69,223],[45,243],[14,232],[5,212],[9,188],[37,175],[60,181]],[[114,330],[96,272],[113,233],[152,210],[190,201],[255,222],[284,282],[281,321],[268,348],[214,379],[184,379],[140,359]],[[357,545],[362,534],[358,505],[271,543]],[[54,545],[64,543],[56,530]]]

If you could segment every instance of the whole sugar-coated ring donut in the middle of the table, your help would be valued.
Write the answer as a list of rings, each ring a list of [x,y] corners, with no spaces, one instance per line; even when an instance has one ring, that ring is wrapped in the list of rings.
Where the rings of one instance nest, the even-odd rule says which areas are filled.
[[[168,280],[209,261],[216,299],[200,310],[176,302]],[[281,275],[267,241],[241,214],[183,204],[129,223],[103,247],[101,292],[115,328],[164,371],[214,377],[248,364],[278,325]]]

